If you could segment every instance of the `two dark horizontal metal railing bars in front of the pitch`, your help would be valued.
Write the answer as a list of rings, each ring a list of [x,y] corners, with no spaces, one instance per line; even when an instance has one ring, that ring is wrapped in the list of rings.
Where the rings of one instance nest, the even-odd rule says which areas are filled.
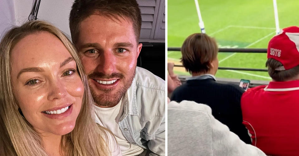
[[[169,47],[168,51],[181,51],[179,47]],[[267,49],[256,49],[256,48],[219,48],[219,52],[227,53],[267,53]],[[174,67],[184,67],[183,65],[174,65]],[[218,69],[224,70],[236,70],[236,71],[268,71],[267,69],[255,69],[255,68],[231,68],[231,67],[218,67]]]

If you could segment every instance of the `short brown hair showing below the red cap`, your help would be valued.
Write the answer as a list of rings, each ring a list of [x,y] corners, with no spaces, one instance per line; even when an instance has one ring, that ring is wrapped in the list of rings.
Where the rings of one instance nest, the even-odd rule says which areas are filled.
[[[266,67],[268,67],[269,76],[274,81],[287,81],[296,78],[299,75],[299,66],[293,67],[288,70],[275,70],[276,68],[281,66],[283,66],[282,63],[273,58],[269,58],[266,62]]]

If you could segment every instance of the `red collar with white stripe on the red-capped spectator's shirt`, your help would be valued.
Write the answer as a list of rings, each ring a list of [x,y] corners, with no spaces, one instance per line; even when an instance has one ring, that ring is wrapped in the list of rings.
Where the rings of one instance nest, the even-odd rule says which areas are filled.
[[[274,82],[271,81],[268,86],[264,88],[265,91],[291,91],[299,90],[299,80]]]

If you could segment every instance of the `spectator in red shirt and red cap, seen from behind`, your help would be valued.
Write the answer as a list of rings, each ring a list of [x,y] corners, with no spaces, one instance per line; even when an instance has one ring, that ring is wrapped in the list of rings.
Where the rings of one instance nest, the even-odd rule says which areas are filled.
[[[268,85],[241,98],[252,145],[272,156],[299,155],[299,27],[284,28],[268,44]]]

